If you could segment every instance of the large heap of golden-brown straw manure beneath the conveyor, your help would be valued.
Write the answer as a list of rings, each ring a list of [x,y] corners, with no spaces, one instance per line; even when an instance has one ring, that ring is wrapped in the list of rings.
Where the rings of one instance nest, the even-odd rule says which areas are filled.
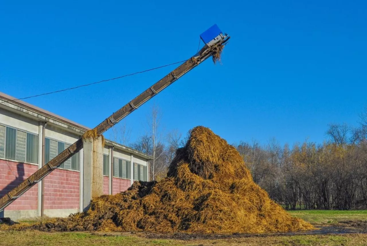
[[[252,181],[236,149],[195,127],[159,182],[135,182],[90,209],[30,228],[46,231],[279,232],[314,229],[291,217]],[[29,227],[28,227],[29,228]]]

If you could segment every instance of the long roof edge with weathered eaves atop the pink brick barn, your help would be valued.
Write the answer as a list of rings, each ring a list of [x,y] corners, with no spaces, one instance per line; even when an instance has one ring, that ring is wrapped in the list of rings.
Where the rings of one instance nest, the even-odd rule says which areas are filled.
[[[27,109],[30,109],[32,111],[36,111],[37,113],[41,114],[41,115],[44,115],[44,116],[47,116],[48,118],[53,118],[53,119],[56,119],[58,121],[61,121],[69,126],[72,126],[76,129],[80,129],[81,131],[88,131],[88,130],[91,130],[91,128],[87,127],[87,126],[83,126],[79,123],[76,123],[76,122],[73,122],[72,120],[69,120],[69,119],[66,119],[65,117],[62,117],[62,116],[59,116],[59,115],[56,115],[50,111],[47,111],[47,110],[44,110],[44,109],[41,109],[37,106],[34,106],[32,104],[29,104],[28,102],[24,102],[24,101],[21,101],[21,100],[17,100],[17,98],[15,97],[12,97],[10,95],[7,95],[5,93],[2,93],[0,92],[0,98],[4,101],[4,102],[8,102],[10,104],[13,104],[13,105],[18,105],[18,106],[21,106],[23,108],[27,108]],[[4,105],[4,102],[2,102],[1,104]],[[6,106],[6,105],[4,105]],[[123,149],[124,151],[127,151],[129,153],[135,153],[137,154],[138,156],[141,156],[145,159],[148,159],[148,160],[152,160],[153,157],[150,156],[150,155],[146,155],[145,153],[142,153],[140,151],[137,151],[136,149],[132,149],[132,148],[129,148],[128,146],[125,146],[125,145],[122,145],[122,144],[119,144],[117,142],[113,142],[111,140],[108,140],[106,139],[106,144],[108,145],[111,145],[111,146],[115,146],[117,148],[120,148],[120,149]]]

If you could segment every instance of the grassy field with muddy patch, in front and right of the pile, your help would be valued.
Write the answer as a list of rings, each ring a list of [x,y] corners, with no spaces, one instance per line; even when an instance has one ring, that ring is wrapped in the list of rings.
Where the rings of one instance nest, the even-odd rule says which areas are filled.
[[[358,211],[289,211],[320,230],[314,234],[152,234],[152,233],[90,233],[1,231],[1,246],[18,245],[367,245],[367,210]],[[304,234],[304,233],[303,233]]]

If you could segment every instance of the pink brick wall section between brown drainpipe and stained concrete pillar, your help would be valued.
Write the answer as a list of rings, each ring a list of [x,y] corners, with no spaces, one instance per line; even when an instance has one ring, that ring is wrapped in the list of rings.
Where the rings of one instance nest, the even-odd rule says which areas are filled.
[[[46,176],[44,209],[79,209],[79,172],[55,169]]]

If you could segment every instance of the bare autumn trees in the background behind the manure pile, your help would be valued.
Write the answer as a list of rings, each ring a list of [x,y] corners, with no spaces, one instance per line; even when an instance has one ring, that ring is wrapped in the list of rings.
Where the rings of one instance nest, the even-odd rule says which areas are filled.
[[[366,209],[367,108],[360,119],[358,127],[328,125],[322,144],[305,141],[290,147],[272,139],[266,145],[253,141],[234,146],[254,182],[286,209]],[[128,145],[153,156],[150,179],[159,180],[187,136],[177,130],[164,133],[157,107],[147,126],[146,133]]]

